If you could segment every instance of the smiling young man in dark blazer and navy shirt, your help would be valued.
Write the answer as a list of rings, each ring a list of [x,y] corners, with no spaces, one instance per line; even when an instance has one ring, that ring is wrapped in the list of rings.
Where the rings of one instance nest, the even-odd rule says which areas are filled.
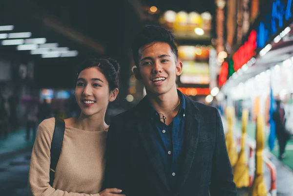
[[[173,34],[145,27],[132,49],[146,97],[112,120],[105,186],[126,196],[236,196],[217,109],[176,89],[183,65]]]

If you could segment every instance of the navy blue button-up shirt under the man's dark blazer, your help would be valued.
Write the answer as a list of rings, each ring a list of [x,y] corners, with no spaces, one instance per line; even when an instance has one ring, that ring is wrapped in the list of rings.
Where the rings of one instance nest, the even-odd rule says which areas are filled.
[[[184,140],[185,98],[181,91],[177,90],[177,92],[181,99],[181,108],[169,125],[161,121],[160,114],[149,101],[147,102],[149,105],[146,107],[151,115],[153,123],[152,134],[171,188],[176,187]]]

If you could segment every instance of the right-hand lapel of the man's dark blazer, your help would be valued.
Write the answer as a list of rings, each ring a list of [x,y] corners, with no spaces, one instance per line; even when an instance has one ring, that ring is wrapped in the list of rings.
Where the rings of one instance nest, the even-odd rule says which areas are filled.
[[[196,115],[196,106],[192,103],[189,98],[186,100],[186,119],[184,126],[184,151],[183,151],[183,163],[181,165],[181,173],[179,175],[177,194],[181,187],[184,185],[188,173],[190,171],[196,148],[198,143],[198,134],[200,127],[200,117]]]

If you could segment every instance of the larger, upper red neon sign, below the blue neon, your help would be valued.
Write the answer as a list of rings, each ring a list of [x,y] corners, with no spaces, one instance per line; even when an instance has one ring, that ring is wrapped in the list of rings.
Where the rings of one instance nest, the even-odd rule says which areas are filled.
[[[252,30],[248,41],[242,45],[233,55],[234,70],[237,71],[246,64],[256,53],[256,31]]]

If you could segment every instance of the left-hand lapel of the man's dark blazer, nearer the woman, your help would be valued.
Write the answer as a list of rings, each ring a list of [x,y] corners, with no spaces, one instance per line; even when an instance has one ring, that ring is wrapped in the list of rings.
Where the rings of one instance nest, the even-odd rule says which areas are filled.
[[[143,101],[139,104],[143,104]],[[141,107],[138,107],[137,111],[142,111]],[[151,120],[147,119],[148,116],[145,116],[141,112],[137,114],[137,116],[143,115],[142,117],[138,118],[137,122],[137,131],[140,137],[140,140],[144,146],[144,149],[148,155],[149,161],[151,165],[153,166],[154,170],[159,175],[160,179],[162,180],[163,184],[166,186],[167,190],[170,191],[168,183],[167,183],[167,177],[164,172],[164,167],[161,161],[161,157],[159,155],[159,152],[156,150],[154,137],[151,134],[153,131],[153,127],[151,124]]]

